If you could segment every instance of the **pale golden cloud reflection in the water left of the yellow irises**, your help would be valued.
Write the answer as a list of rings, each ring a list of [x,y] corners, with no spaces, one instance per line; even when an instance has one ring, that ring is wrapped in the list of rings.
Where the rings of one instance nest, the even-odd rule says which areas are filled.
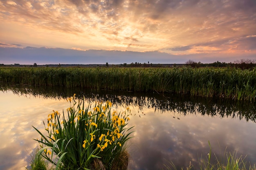
[[[69,104],[65,100],[0,93],[0,169],[25,169],[30,154],[38,146],[33,139],[40,137],[32,126],[43,131],[43,120],[47,115],[53,109],[62,110]]]

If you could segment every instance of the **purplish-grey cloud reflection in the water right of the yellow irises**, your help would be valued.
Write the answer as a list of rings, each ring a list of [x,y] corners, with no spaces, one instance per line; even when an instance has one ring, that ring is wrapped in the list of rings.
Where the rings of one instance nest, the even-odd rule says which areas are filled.
[[[206,160],[209,153],[208,141],[217,157],[223,157],[225,150],[237,150],[238,155],[245,156],[255,147],[254,123],[202,115],[182,116],[174,112],[160,114],[153,109],[146,112],[144,109],[144,113],[146,116],[131,118],[130,121],[130,126],[136,126],[135,137],[129,142],[132,170],[162,169],[164,165],[171,167],[171,161],[177,169],[186,168],[190,161],[197,169],[199,160]],[[243,133],[247,130],[249,132]],[[245,141],[241,141],[245,136],[249,138],[249,141],[246,140],[248,147],[243,144]],[[256,149],[253,150],[256,152]],[[254,157],[248,160],[256,162]]]

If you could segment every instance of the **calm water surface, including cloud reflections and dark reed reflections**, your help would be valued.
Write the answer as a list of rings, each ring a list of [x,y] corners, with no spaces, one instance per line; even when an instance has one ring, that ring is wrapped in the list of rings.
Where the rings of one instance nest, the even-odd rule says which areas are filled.
[[[220,101],[158,94],[101,93],[84,89],[8,88],[0,91],[0,169],[18,170],[29,166],[43,121],[52,110],[70,106],[66,97],[76,93],[86,102],[110,100],[116,110],[131,108],[128,126],[135,126],[128,142],[130,170],[198,167],[211,144],[216,157],[237,152],[238,157],[256,163],[255,103]],[[171,166],[170,166],[171,167]]]

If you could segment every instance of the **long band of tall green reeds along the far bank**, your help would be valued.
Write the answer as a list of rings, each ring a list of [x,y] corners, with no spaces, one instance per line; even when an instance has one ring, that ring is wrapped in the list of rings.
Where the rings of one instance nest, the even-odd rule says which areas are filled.
[[[0,68],[0,84],[179,93],[255,101],[256,68]]]

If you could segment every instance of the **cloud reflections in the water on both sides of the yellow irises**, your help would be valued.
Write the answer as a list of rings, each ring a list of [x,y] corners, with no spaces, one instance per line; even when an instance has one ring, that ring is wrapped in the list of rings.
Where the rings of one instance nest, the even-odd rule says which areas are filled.
[[[0,92],[0,103],[0,169],[22,169],[28,166],[29,154],[37,146],[33,139],[40,137],[32,126],[43,130],[47,115],[52,110],[65,110],[69,103],[64,99],[14,95],[11,91]],[[238,156],[248,154],[245,161],[256,163],[253,121],[129,107],[132,115],[128,126],[136,130],[128,144],[132,170],[161,169],[169,165],[168,161],[177,169],[189,166],[190,161],[197,167],[201,155],[207,157],[208,141],[218,157],[227,147],[227,151],[237,150]],[[125,108],[118,106],[120,110]]]

